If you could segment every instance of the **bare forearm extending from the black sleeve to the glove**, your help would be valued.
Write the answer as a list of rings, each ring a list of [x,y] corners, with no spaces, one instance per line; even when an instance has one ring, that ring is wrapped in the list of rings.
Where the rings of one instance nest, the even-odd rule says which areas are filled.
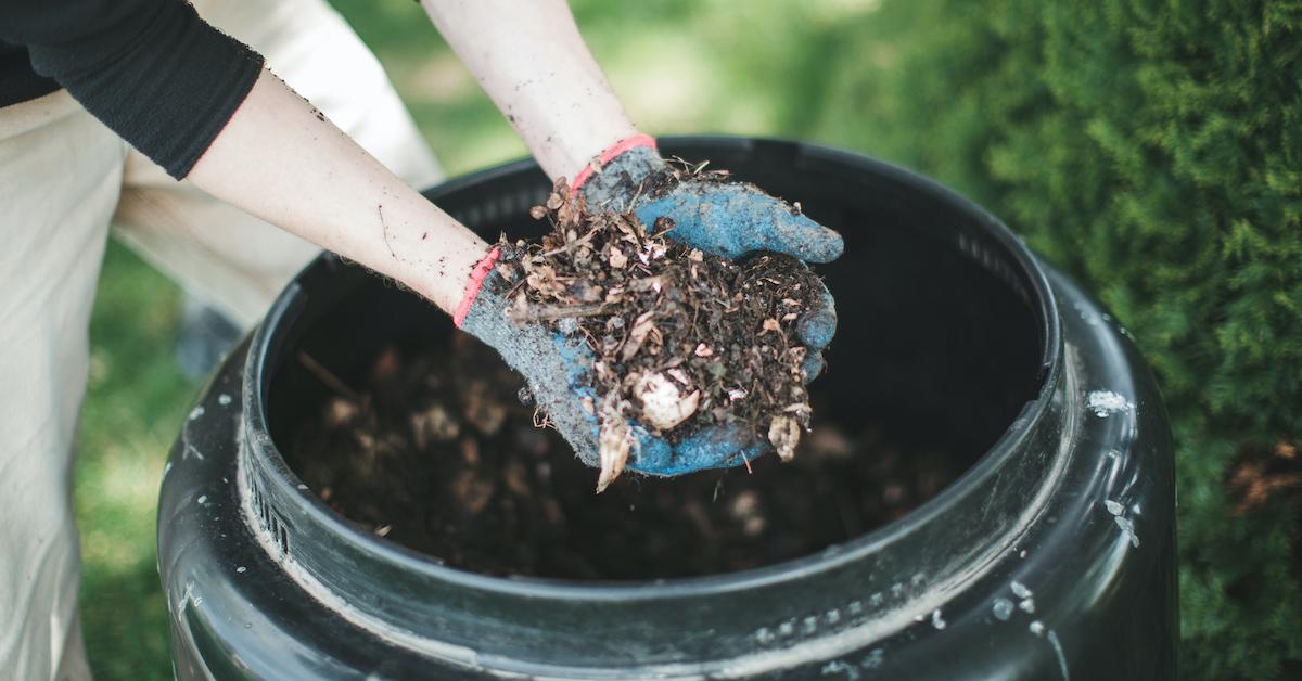
[[[449,314],[471,267],[488,249],[270,72],[263,72],[189,178],[228,203],[401,281]]]

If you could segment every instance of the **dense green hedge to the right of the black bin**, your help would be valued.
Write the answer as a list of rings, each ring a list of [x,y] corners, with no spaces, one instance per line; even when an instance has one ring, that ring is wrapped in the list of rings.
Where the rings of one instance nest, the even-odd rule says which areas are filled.
[[[1302,440],[1302,3],[887,0],[836,31],[811,133],[984,202],[1152,362],[1182,676],[1297,673],[1297,496],[1236,513],[1226,479]]]

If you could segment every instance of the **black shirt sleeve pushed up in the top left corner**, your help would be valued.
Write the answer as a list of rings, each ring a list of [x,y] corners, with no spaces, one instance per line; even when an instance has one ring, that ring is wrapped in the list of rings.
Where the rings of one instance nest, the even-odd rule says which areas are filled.
[[[182,0],[0,0],[0,107],[66,87],[185,177],[243,102],[262,56]]]

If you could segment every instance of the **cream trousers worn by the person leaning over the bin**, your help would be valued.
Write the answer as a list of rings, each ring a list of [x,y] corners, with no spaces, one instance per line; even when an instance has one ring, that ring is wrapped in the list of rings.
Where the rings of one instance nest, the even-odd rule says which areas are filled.
[[[323,0],[194,4],[409,184],[440,178],[379,63]],[[111,224],[246,326],[318,253],[176,182],[66,92],[0,108],[0,678],[90,677],[72,460]]]

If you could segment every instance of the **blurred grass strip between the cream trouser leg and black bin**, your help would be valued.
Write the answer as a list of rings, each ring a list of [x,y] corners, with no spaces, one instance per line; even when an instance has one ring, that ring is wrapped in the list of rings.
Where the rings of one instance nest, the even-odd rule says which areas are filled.
[[[198,385],[172,359],[176,285],[117,243],[91,318],[77,458],[82,618],[98,678],[171,678],[154,514],[163,464]]]

